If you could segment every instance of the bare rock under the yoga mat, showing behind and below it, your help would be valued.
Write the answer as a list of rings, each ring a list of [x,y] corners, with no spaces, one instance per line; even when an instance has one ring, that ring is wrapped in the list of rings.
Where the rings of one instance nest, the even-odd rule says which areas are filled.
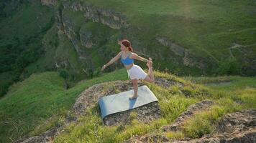
[[[139,82],[138,84],[139,86],[142,86],[142,82]],[[108,85],[97,84],[81,94],[81,97],[79,97],[76,104],[74,104],[73,109],[75,110],[76,114],[86,115],[86,109],[94,106],[101,97],[116,94],[116,91],[125,92],[130,89],[133,89],[132,82],[130,81],[110,82]],[[153,119],[157,119],[161,116],[158,103],[152,102],[136,109],[111,114],[104,118],[104,124],[108,126],[121,123],[128,124],[131,122],[131,119],[129,118],[131,112],[136,114],[136,119],[138,119],[140,122],[150,122]]]

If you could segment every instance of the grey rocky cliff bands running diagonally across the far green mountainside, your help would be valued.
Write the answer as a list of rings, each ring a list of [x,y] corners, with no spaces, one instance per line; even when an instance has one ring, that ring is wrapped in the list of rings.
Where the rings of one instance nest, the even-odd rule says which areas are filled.
[[[56,4],[55,0],[42,0],[45,5]],[[80,21],[73,21],[73,16],[69,16],[69,12],[79,13],[83,16]],[[129,24],[127,17],[123,14],[114,11],[113,9],[105,9],[91,4],[86,4],[81,1],[63,1],[59,4],[56,11],[56,21],[58,22],[58,29],[60,34],[65,34],[72,42],[76,49],[79,59],[82,62],[86,62],[87,65],[93,67],[91,55],[88,54],[88,48],[96,48],[102,46],[102,43],[106,44],[113,34],[102,34],[101,31],[92,31],[91,29],[83,28],[88,23],[98,24],[97,26],[104,26],[111,30],[119,32],[119,39],[127,38],[132,41],[132,46],[135,47],[135,51],[141,56],[151,56],[154,59],[168,60],[177,65],[184,65],[191,68],[198,69],[212,69],[216,68],[216,62],[211,57],[203,58],[193,54],[191,49],[186,49],[179,44],[174,43],[165,37],[156,37],[155,43],[160,46],[168,46],[170,54],[163,56],[160,48],[149,51],[149,48],[145,43],[142,43],[140,39],[132,31],[137,31],[139,27],[134,27]],[[83,23],[83,26],[76,27],[77,23]],[[156,51],[155,51],[156,50]],[[175,54],[173,56],[173,54]],[[169,57],[170,56],[170,57]],[[93,68],[92,68],[93,69]]]

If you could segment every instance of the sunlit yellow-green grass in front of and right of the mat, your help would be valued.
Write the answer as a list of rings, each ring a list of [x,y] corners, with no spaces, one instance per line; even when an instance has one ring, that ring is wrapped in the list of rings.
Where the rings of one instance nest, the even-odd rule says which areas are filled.
[[[237,91],[230,92],[226,90],[211,89],[198,84],[192,84],[189,81],[180,79],[170,74],[164,74],[155,71],[157,77],[165,77],[173,79],[176,82],[185,84],[183,89],[189,92],[189,97],[180,94],[178,87],[171,87],[164,89],[155,84],[147,84],[152,92],[159,99],[162,117],[149,124],[142,124],[133,119],[136,116],[130,116],[132,122],[129,124],[120,124],[116,126],[106,127],[100,119],[99,112],[94,109],[89,109],[91,113],[88,117],[81,118],[81,122],[73,124],[60,134],[55,139],[55,142],[122,142],[134,135],[150,134],[164,134],[170,138],[202,137],[204,134],[211,134],[214,132],[215,124],[224,114],[237,112],[242,109],[255,108],[255,88],[241,88]],[[242,77],[233,77],[234,79],[243,79]],[[195,78],[196,79],[196,78]],[[216,79],[209,79],[211,82],[225,81],[227,77],[216,77]],[[252,79],[252,78],[249,78]],[[199,80],[199,79],[198,79]],[[205,79],[204,79],[205,82]],[[234,81],[235,82],[235,81]],[[244,83],[252,84],[249,81]],[[165,124],[170,124],[185,111],[189,105],[199,102],[202,99],[210,99],[216,102],[216,105],[211,106],[208,110],[197,112],[189,118],[184,126],[178,132],[161,132],[158,129]],[[237,104],[240,100],[241,104]],[[89,122],[87,124],[87,122]]]

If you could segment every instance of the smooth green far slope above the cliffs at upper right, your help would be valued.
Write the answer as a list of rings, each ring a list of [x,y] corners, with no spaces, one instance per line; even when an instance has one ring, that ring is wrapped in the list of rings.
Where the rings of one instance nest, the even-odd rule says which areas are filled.
[[[193,54],[206,61],[211,59],[207,64],[217,64],[219,71],[214,71],[216,73],[252,74],[248,66],[253,66],[249,60],[255,59],[255,1],[83,2],[114,9],[127,16],[129,23],[134,27],[128,37],[142,42],[152,55],[155,51],[165,55],[165,48],[157,44],[155,39],[166,37],[186,49],[191,49]],[[229,49],[234,44],[251,46],[241,50]],[[168,52],[170,54],[165,56],[167,60],[169,56],[174,56]],[[159,60],[155,58],[156,61]],[[171,61],[160,63],[163,68],[174,64]],[[227,63],[235,65],[229,68]],[[227,69],[222,67],[224,65]],[[239,71],[239,68],[247,70]]]

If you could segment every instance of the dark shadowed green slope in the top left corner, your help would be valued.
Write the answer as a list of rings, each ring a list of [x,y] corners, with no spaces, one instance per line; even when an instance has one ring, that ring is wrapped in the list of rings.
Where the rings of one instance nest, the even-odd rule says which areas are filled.
[[[1,1],[4,16],[0,19],[0,97],[9,85],[18,81],[24,67],[44,52],[42,36],[55,19],[53,11],[40,1]],[[6,75],[8,80],[4,79]]]

